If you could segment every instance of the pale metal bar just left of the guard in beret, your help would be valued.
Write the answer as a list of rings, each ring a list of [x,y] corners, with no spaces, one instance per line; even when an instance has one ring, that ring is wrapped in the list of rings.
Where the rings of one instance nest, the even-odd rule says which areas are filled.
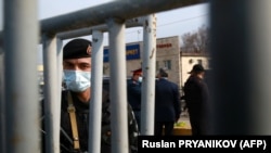
[[[60,87],[57,65],[57,38],[43,35],[44,67],[44,115],[46,115],[46,149],[47,153],[60,152]]]

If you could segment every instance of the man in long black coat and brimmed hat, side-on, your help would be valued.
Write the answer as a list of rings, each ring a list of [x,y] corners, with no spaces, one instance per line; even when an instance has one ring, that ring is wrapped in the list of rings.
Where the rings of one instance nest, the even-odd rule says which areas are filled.
[[[205,69],[195,64],[184,84],[184,100],[188,105],[193,136],[207,135],[209,114],[209,90],[204,81]]]

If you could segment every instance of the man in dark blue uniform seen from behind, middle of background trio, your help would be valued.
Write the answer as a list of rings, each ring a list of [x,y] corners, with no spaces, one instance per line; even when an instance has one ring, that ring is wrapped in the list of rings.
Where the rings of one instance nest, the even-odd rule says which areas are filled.
[[[179,86],[168,80],[168,74],[160,68],[155,85],[155,136],[173,135],[175,123],[180,118]]]

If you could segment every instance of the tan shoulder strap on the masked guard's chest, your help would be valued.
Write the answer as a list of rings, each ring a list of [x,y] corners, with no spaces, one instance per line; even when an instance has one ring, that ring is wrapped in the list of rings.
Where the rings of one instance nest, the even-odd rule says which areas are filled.
[[[78,136],[78,129],[77,129],[77,122],[76,122],[76,114],[75,114],[75,106],[73,103],[73,98],[70,92],[68,91],[68,107],[67,107],[67,112],[69,114],[69,118],[70,118],[70,125],[72,125],[72,131],[73,131],[73,139],[74,139],[74,149],[75,150],[79,150],[80,145],[79,145],[79,136]]]

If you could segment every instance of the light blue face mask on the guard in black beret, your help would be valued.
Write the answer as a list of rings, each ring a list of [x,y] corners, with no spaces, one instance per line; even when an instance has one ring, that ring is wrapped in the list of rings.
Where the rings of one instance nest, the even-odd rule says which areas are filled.
[[[82,92],[91,87],[90,78],[90,72],[64,71],[64,81],[66,87],[75,92]]]

